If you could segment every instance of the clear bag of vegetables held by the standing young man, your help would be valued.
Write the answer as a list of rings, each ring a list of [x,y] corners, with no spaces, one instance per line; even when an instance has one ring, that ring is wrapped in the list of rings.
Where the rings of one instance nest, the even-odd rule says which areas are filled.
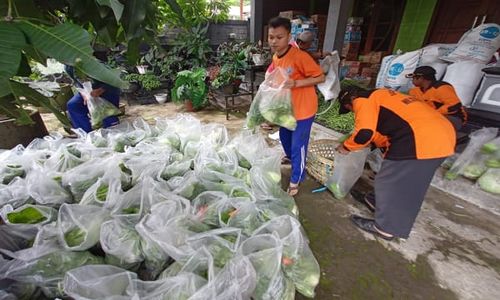
[[[292,109],[292,92],[283,87],[287,79],[286,70],[278,67],[261,83],[247,116],[248,128],[255,128],[265,119],[286,129],[295,130],[297,120]]]

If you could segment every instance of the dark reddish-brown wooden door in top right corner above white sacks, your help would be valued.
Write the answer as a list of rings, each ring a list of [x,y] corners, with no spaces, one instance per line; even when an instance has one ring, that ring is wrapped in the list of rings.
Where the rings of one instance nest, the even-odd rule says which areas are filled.
[[[456,43],[482,22],[500,24],[499,0],[439,0],[427,43]]]

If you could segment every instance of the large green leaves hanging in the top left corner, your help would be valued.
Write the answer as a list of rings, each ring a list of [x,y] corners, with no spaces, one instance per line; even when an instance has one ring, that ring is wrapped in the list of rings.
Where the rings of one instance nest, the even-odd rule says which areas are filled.
[[[45,64],[47,57],[126,88],[119,71],[93,56],[92,44],[124,42],[129,59],[137,60],[138,45],[154,37],[155,4],[149,0],[0,0],[0,114],[27,125],[33,124],[27,108],[45,107],[70,126],[48,98],[17,80],[31,73],[30,61]]]

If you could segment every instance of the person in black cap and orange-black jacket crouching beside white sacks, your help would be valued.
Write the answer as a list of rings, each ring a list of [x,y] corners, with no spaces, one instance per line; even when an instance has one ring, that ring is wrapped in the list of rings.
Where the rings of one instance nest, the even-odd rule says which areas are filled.
[[[430,66],[420,66],[406,77],[411,78],[415,85],[409,92],[410,96],[445,115],[455,130],[460,130],[467,120],[467,113],[451,84],[436,80],[436,70]]]

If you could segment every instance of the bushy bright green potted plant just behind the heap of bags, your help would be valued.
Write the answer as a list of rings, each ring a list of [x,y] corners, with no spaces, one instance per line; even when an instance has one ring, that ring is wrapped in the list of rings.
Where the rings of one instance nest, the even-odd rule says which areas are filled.
[[[188,111],[200,109],[207,100],[206,71],[203,68],[184,70],[177,73],[172,88],[172,101],[185,103]]]

